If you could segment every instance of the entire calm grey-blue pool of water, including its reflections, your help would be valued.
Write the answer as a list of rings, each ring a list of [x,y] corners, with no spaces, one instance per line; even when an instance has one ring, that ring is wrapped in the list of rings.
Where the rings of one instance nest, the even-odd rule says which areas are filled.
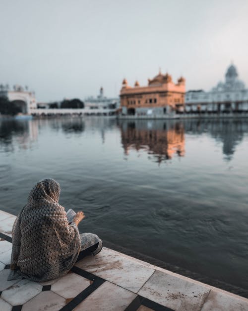
[[[248,289],[248,119],[0,121],[0,208],[46,177],[81,232]]]

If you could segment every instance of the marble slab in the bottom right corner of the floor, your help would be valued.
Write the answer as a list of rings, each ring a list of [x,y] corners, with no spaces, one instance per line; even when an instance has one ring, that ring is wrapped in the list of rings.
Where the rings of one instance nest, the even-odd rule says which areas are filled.
[[[211,290],[201,311],[248,311],[248,299]]]

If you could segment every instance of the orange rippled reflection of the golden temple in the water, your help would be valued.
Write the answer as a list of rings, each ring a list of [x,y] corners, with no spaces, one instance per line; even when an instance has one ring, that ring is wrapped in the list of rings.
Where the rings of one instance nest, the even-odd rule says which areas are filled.
[[[132,121],[120,123],[125,155],[129,150],[146,150],[157,162],[185,155],[184,125],[181,122]]]

